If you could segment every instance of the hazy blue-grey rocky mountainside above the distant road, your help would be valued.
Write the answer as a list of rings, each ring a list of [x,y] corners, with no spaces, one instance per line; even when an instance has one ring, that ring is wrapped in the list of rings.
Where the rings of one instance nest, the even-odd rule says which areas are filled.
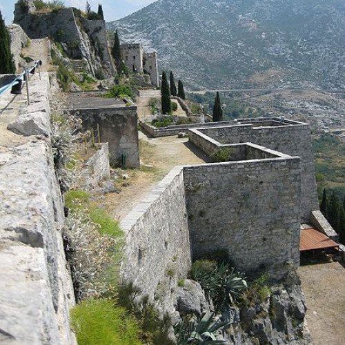
[[[115,28],[192,88],[345,88],[344,0],[159,0]]]

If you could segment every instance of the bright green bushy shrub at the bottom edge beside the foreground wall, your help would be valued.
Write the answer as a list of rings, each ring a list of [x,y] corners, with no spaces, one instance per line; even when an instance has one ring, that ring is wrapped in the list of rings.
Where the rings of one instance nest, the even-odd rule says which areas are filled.
[[[139,345],[138,322],[109,299],[87,299],[71,311],[79,345]]]

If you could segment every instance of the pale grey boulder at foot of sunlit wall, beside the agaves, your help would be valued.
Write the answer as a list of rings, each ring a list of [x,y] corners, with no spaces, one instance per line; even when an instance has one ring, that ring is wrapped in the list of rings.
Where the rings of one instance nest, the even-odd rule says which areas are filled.
[[[180,313],[195,313],[201,315],[210,311],[204,295],[204,290],[197,282],[185,279],[184,287],[177,287],[176,310]]]

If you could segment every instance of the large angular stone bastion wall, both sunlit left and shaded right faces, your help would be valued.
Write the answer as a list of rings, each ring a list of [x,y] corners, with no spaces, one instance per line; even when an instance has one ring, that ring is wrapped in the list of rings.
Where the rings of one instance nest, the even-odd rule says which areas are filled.
[[[297,268],[301,159],[259,146],[247,158],[257,150],[260,159],[175,167],[121,221],[122,279],[154,298],[170,273],[186,277],[192,260],[221,251],[247,273]]]

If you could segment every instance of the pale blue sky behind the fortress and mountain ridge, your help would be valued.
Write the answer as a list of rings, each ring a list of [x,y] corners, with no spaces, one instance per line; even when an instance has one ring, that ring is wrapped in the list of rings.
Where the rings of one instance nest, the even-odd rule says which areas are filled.
[[[101,3],[106,21],[113,21],[126,17],[126,15],[155,1],[157,0],[89,0],[89,3],[95,12],[97,12],[98,4]],[[0,10],[6,24],[13,20],[14,3],[16,2],[17,0],[0,0]],[[65,0],[63,2],[66,6],[73,6],[82,10],[86,5],[86,0]]]

